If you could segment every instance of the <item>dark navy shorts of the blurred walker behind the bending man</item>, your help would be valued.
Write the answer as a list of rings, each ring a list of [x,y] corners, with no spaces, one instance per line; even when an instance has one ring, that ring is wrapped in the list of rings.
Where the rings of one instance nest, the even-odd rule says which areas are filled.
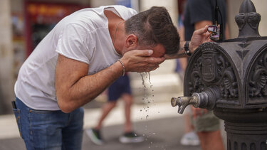
[[[127,75],[119,77],[108,87],[108,101],[117,101],[122,94],[131,94],[130,79]]]

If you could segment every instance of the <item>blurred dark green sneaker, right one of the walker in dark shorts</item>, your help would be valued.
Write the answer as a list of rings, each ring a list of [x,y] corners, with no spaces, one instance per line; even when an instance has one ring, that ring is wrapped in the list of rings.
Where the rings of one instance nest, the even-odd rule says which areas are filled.
[[[120,136],[119,141],[121,143],[139,143],[145,141],[143,136],[138,136],[135,132],[128,132]]]

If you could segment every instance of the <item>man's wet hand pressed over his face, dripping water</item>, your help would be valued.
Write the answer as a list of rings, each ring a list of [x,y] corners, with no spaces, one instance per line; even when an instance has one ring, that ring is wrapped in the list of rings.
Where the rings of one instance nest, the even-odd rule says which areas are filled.
[[[126,72],[150,72],[159,68],[165,58],[151,57],[153,50],[130,50],[120,59]]]

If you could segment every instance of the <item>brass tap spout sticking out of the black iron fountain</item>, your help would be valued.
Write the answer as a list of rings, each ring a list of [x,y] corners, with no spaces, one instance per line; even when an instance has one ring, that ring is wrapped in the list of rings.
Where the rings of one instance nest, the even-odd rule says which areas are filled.
[[[192,97],[172,97],[172,107],[176,107],[178,105],[178,113],[182,114],[184,113],[184,109],[187,107],[187,105],[193,105],[194,107],[199,106],[199,100],[196,96]]]

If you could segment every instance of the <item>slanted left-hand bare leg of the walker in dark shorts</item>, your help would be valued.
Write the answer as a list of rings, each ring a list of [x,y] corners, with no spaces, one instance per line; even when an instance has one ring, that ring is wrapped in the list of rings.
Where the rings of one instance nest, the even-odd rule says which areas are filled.
[[[95,129],[100,130],[102,127],[102,122],[105,119],[105,117],[108,116],[110,111],[116,106],[117,101],[114,102],[107,102],[103,107],[102,107],[102,115],[100,119],[98,120],[98,125],[95,127]]]

